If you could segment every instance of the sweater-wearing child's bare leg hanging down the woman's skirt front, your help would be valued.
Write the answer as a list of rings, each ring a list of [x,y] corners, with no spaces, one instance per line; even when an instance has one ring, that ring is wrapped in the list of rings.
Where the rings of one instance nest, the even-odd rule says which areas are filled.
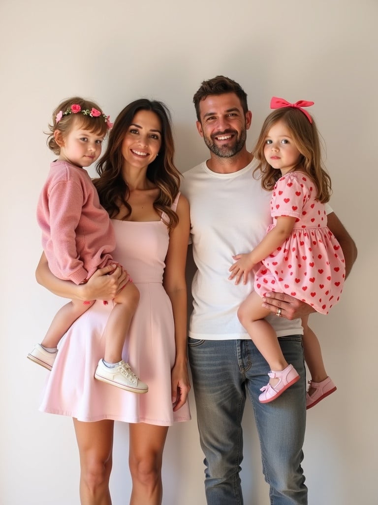
[[[114,301],[115,306],[110,313],[104,332],[104,360],[108,363],[118,363],[122,359],[123,344],[139,303],[139,290],[132,282],[128,282]]]

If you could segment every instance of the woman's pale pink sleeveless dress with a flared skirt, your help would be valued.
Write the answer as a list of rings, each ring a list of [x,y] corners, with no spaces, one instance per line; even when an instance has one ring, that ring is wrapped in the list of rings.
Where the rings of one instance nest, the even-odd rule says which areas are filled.
[[[172,206],[176,209],[178,197]],[[140,291],[139,306],[122,358],[149,386],[135,394],[94,379],[104,356],[103,331],[112,308],[101,300],[81,316],[59,344],[40,410],[79,421],[113,419],[169,426],[191,419],[188,402],[173,412],[171,369],[175,360],[172,307],[162,280],[169,235],[163,219],[133,222],[112,220],[116,237],[113,258],[127,265]]]

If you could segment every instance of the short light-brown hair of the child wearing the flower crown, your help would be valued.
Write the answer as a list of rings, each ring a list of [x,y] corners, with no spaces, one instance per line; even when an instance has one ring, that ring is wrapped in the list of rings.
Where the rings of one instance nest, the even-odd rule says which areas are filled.
[[[77,114],[67,114],[66,116],[63,115],[61,119],[58,122],[56,122],[57,114],[60,111],[66,112],[71,110],[71,107],[73,105],[80,105],[82,111],[97,109],[101,113],[101,115],[98,117],[93,117],[89,115],[84,115],[79,112]],[[104,120],[104,113],[96,104],[96,102],[92,102],[92,100],[81,98],[80,96],[67,98],[66,100],[60,102],[60,104],[53,111],[52,122],[51,124],[48,125],[49,131],[46,132],[46,134],[48,135],[46,143],[55,155],[60,154],[60,147],[54,139],[54,132],[56,130],[60,131],[61,136],[64,138],[70,133],[74,124],[79,128],[82,128],[83,130],[88,130],[91,133],[103,135],[104,137],[108,131],[108,126]]]

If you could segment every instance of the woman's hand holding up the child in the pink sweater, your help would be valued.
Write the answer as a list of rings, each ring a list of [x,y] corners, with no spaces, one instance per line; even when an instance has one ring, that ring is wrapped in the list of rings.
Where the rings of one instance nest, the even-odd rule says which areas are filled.
[[[114,264],[96,270],[82,288],[87,300],[112,300],[129,281],[128,272]]]

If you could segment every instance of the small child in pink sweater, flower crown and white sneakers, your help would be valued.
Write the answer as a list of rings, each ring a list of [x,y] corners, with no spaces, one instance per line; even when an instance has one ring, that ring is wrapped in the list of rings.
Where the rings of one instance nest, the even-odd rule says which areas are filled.
[[[37,207],[42,245],[51,272],[60,279],[83,284],[97,269],[114,265],[112,224],[100,205],[86,168],[101,154],[101,144],[112,124],[97,104],[73,97],[60,103],[49,125],[48,146],[58,159],[51,163]],[[28,354],[51,370],[57,344],[72,323],[95,300],[71,300],[55,315],[41,344]],[[146,393],[148,386],[122,360],[121,352],[139,302],[139,291],[129,281],[114,298],[105,332],[105,355],[95,378],[122,389]],[[107,304],[107,301],[104,301]]]

